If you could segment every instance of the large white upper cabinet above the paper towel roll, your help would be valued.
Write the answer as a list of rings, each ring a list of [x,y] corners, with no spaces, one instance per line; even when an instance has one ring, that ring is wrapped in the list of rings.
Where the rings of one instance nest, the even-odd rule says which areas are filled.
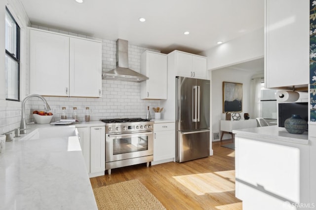
[[[265,0],[266,88],[309,83],[309,3]]]

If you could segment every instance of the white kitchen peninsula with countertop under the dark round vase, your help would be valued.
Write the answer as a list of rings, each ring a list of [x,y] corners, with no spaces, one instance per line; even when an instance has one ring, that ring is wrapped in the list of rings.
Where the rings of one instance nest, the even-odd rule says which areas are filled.
[[[267,126],[236,134],[236,197],[244,210],[292,210],[310,203],[308,132]],[[304,208],[303,208],[304,209]]]

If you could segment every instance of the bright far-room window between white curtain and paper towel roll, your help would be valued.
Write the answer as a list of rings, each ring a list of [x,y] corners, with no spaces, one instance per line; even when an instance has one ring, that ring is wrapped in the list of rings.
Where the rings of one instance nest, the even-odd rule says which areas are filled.
[[[276,119],[276,90],[265,89],[265,83],[261,83],[261,117]]]

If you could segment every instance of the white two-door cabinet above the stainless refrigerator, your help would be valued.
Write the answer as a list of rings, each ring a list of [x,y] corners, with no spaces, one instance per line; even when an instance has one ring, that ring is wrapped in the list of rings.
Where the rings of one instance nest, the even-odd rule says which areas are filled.
[[[176,76],[207,79],[207,60],[205,57],[177,50],[171,53],[175,53]]]

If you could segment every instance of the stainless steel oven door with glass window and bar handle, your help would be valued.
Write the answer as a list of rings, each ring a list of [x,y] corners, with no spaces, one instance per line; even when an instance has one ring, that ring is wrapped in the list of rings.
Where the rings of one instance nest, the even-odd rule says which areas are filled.
[[[105,162],[153,155],[153,136],[153,132],[107,135]]]

